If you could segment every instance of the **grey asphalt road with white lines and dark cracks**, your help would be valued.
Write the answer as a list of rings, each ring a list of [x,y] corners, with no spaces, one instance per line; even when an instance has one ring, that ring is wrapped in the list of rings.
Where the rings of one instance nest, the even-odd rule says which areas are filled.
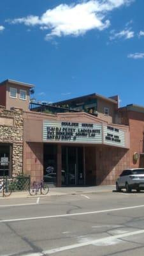
[[[144,193],[0,200],[0,255],[144,255]]]

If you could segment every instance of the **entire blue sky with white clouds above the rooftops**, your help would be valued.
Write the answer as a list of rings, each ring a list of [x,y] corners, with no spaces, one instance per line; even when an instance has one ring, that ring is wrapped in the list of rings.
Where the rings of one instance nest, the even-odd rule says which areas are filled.
[[[1,0],[0,81],[36,100],[90,93],[144,106],[143,0]]]

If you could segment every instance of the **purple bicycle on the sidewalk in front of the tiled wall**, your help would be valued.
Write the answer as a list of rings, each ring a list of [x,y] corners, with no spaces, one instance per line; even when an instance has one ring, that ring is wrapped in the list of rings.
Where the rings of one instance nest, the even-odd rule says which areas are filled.
[[[41,195],[47,195],[47,193],[49,192],[49,187],[47,184],[45,184],[45,182],[43,182],[43,180],[41,180],[41,182],[36,182],[34,181],[32,184],[32,187],[29,188],[29,194],[31,196],[37,195],[38,192],[40,191]]]

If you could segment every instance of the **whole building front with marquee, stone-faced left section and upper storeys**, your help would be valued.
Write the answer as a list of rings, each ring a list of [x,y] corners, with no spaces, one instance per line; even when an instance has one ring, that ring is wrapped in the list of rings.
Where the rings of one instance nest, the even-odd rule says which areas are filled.
[[[41,106],[29,109],[31,88],[11,80],[0,84],[0,175],[25,173],[52,186],[105,185],[115,184],[122,170],[143,166],[140,108],[119,109],[117,96],[93,93],[41,113]]]

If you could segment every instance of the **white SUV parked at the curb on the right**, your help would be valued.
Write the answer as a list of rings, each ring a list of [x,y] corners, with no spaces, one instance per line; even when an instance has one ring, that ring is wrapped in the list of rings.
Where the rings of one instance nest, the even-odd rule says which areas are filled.
[[[124,170],[116,181],[116,190],[126,188],[127,192],[144,190],[144,168]]]

